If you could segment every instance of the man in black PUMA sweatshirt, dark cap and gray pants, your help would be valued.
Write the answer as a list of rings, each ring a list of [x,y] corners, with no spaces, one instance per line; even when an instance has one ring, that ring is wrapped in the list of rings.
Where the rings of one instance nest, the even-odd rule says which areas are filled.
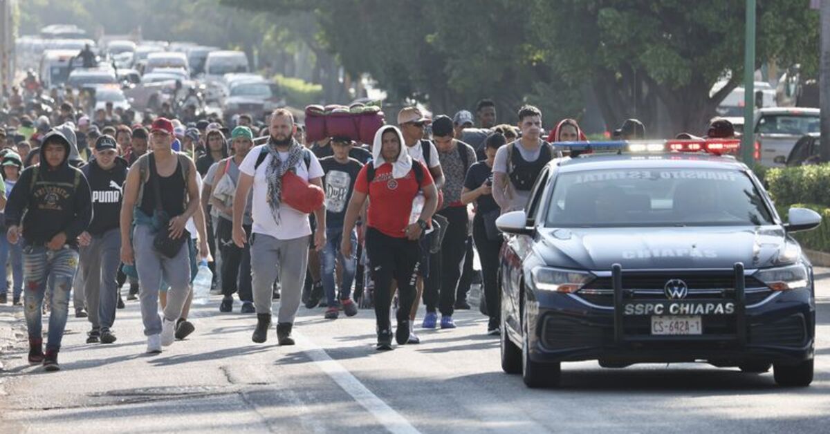
[[[81,274],[92,329],[87,344],[112,344],[110,329],[118,305],[115,276],[120,264],[119,217],[128,164],[118,156],[115,138],[102,135],[95,140],[94,157],[81,168],[90,183],[93,217],[78,238],[81,244]]]

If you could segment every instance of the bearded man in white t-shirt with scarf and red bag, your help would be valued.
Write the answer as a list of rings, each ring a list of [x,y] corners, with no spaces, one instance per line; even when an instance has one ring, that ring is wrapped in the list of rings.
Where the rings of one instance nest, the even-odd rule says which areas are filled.
[[[282,178],[293,171],[299,178],[323,188],[323,168],[310,150],[294,139],[294,116],[284,109],[271,114],[268,143],[251,149],[239,166],[237,193],[233,200],[233,242],[242,248],[248,242],[242,227],[248,192],[253,187],[251,216],[251,276],[256,307],[256,330],[251,339],[265,342],[271,326],[271,285],[280,275],[282,285],[277,314],[276,339],[293,345],[291,327],[300,307],[305,282],[311,226],[308,214],[281,202]],[[325,207],[315,210],[315,248],[325,246]],[[279,263],[279,268],[277,264]]]

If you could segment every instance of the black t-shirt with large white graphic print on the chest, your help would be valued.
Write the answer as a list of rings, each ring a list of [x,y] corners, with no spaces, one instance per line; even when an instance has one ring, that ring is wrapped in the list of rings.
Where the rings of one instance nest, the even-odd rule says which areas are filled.
[[[320,159],[325,178],[325,225],[326,227],[343,227],[346,208],[354,191],[354,181],[363,168],[358,160],[349,158],[349,163],[339,163],[334,157]]]

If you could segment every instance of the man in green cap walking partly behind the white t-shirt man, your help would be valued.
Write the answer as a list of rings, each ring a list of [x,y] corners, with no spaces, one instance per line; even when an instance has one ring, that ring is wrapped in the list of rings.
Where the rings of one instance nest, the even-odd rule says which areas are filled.
[[[219,212],[216,241],[222,254],[222,304],[219,305],[219,311],[233,310],[233,293],[238,291],[239,300],[242,301],[240,312],[252,314],[256,309],[251,293],[251,247],[245,245],[239,248],[233,243],[233,193],[239,182],[239,165],[251,151],[254,136],[250,128],[239,126],[233,129],[231,138],[235,153],[217,164],[211,182],[214,186],[210,197],[211,205]],[[246,233],[251,233],[253,224],[251,206],[251,194],[248,193],[245,213],[242,216],[242,227]]]

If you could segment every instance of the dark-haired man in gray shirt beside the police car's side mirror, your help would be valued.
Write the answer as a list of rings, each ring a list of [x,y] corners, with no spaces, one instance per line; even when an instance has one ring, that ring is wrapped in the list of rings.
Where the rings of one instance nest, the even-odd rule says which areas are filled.
[[[501,212],[523,210],[530,188],[551,158],[557,156],[542,137],[542,112],[533,105],[519,109],[521,139],[502,146],[493,162],[493,198]]]

